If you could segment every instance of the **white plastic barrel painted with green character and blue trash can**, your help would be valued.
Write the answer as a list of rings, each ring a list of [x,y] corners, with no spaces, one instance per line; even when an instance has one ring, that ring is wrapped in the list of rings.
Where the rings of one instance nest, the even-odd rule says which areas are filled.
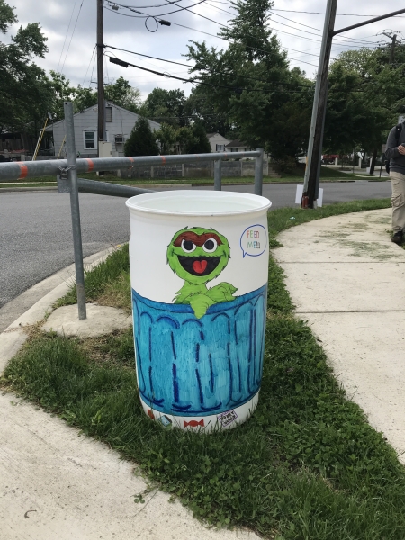
[[[262,379],[271,202],[175,191],[126,204],[142,407],[165,426],[234,428]]]

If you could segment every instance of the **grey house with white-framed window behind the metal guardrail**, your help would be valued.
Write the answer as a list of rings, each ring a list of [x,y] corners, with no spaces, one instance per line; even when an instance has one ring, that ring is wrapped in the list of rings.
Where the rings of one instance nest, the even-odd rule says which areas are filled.
[[[74,115],[75,121],[75,142],[76,152],[80,153],[81,157],[96,157],[97,148],[97,122],[98,122],[98,107],[88,107],[84,111],[77,112]],[[107,134],[107,142],[112,144],[112,156],[123,156],[124,143],[130,136],[130,132],[139,119],[139,114],[127,111],[118,105],[107,102],[105,106],[105,126]],[[160,124],[157,121],[148,120],[151,130],[158,130]],[[53,132],[55,141],[55,155],[60,157],[66,156],[65,148],[65,121],[56,121],[53,126],[50,125],[46,131]]]

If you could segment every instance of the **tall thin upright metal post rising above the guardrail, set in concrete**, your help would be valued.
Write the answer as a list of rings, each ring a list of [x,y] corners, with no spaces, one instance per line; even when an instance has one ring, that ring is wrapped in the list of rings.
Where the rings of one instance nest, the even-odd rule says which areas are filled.
[[[82,231],[77,188],[75,124],[73,103],[65,102],[65,126],[67,147],[67,178],[70,184],[70,211],[72,213],[73,248],[75,251],[76,291],[79,320],[87,318],[85,311],[85,268],[83,265]]]

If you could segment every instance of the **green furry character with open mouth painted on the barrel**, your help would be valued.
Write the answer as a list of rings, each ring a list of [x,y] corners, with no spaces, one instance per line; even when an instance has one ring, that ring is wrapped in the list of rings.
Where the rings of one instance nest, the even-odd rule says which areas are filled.
[[[228,240],[216,230],[193,227],[176,232],[167,247],[168,265],[184,279],[175,303],[190,304],[201,319],[211,305],[235,300],[238,289],[233,285],[220,283],[211,289],[206,285],[220,275],[229,257]]]

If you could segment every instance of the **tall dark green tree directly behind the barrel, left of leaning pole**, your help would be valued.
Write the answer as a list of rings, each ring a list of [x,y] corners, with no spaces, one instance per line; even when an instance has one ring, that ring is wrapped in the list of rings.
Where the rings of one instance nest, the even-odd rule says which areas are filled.
[[[188,47],[187,57],[195,66],[195,94],[204,95],[218,118],[247,145],[265,146],[276,158],[296,158],[307,144],[311,105],[310,112],[306,107],[313,84],[301,70],[289,69],[286,53],[269,27],[270,0],[232,4],[237,15],[220,31],[229,40],[228,49],[208,49],[205,42],[194,41]],[[292,116],[297,123],[285,126]]]

